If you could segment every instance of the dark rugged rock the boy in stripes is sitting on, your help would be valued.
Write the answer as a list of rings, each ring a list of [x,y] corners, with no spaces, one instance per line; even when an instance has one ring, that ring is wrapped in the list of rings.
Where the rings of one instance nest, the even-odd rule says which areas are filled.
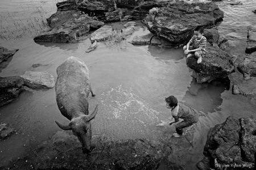
[[[205,48],[202,62],[197,63],[195,56],[187,58],[187,66],[194,70],[192,74],[197,83],[210,82],[214,79],[226,78],[234,71],[232,57],[216,46]]]

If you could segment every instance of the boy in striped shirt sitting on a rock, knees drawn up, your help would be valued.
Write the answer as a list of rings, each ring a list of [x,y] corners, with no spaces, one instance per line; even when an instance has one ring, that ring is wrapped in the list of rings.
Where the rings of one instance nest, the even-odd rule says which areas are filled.
[[[187,54],[187,58],[191,57],[193,53],[198,58],[197,63],[202,62],[202,54],[205,53],[205,47],[207,39],[204,35],[204,27],[197,26],[194,30],[194,35],[189,40],[188,44],[183,47],[184,53]]]

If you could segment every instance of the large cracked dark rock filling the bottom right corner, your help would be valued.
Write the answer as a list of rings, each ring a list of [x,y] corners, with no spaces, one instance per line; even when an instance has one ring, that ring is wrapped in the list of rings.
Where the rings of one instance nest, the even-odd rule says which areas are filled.
[[[256,117],[230,116],[222,124],[210,128],[204,146],[204,159],[197,168],[254,169]]]

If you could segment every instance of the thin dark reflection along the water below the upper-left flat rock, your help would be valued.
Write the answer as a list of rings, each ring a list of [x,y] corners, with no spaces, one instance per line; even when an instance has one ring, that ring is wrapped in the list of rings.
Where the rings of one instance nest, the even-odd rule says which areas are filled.
[[[64,43],[64,42],[46,42],[46,41],[35,41],[36,44],[43,45],[46,47],[59,47],[62,50],[77,50],[79,43]]]

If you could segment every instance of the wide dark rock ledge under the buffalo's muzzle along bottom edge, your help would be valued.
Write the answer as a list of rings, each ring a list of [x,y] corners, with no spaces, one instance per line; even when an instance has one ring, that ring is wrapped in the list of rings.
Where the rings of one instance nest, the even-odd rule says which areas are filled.
[[[57,131],[49,141],[5,169],[157,169],[169,154],[162,143],[148,139],[93,136],[93,143],[104,146],[104,150],[96,147],[91,156],[84,155],[77,137],[70,131]]]

